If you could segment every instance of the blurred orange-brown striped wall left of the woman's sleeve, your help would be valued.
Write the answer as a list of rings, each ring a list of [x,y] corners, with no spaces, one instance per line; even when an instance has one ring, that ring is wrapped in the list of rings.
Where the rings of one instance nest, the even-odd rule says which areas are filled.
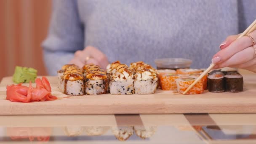
[[[47,36],[51,0],[0,0],[0,80],[15,66],[46,75],[42,41]]]

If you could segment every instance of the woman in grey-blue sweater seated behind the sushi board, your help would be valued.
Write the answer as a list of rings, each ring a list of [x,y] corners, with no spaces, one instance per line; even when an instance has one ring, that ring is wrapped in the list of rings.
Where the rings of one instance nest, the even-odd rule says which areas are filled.
[[[165,57],[192,59],[192,67],[205,68],[225,37],[255,19],[255,5],[255,0],[54,0],[43,42],[45,64],[51,75],[67,63],[155,66],[156,58]],[[250,35],[256,40],[256,32]],[[232,43],[236,37],[221,44],[213,63],[255,72],[251,38]]]

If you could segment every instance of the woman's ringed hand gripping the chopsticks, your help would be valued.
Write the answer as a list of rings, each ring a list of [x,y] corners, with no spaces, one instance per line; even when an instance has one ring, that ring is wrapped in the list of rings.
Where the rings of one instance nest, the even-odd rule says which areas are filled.
[[[213,56],[212,62],[216,64],[214,68],[234,67],[256,72],[256,31],[249,36],[255,40],[254,43],[248,36],[239,39],[239,35],[227,37],[220,45],[221,51]]]

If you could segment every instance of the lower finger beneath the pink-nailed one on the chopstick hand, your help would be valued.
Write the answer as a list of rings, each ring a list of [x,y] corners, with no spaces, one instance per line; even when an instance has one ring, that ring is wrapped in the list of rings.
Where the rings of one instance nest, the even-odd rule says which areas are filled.
[[[252,47],[245,48],[244,50],[235,53],[231,58],[227,59],[222,63],[218,64],[218,67],[229,67],[239,64],[245,64],[248,61],[251,61],[254,57],[254,49]]]

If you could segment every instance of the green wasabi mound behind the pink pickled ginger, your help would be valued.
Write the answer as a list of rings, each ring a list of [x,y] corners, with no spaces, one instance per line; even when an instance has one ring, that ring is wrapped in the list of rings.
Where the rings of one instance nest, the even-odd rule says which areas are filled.
[[[29,83],[29,81],[35,82],[37,78],[37,70],[28,67],[15,67],[13,74],[14,83]]]

